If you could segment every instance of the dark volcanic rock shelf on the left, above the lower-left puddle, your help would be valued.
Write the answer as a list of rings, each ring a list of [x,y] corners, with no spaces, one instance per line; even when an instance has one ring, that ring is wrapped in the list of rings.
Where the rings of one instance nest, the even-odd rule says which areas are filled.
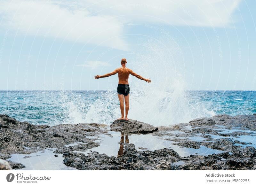
[[[30,154],[46,148],[57,148],[59,151],[72,149],[65,147],[71,143],[79,144],[79,149],[85,151],[99,146],[99,142],[86,136],[99,136],[107,133],[106,128],[93,123],[79,123],[75,125],[32,125],[28,122],[19,122],[7,115],[0,115],[0,154],[9,156],[14,153]],[[4,126],[4,127],[3,127]]]

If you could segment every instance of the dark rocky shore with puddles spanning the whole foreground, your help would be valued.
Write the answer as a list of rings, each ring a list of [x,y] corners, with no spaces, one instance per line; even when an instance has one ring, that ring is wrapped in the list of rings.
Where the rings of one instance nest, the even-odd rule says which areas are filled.
[[[110,131],[120,136],[116,155],[91,150],[100,148],[102,137],[113,139]],[[138,136],[157,144],[136,146],[132,139]],[[0,167],[8,167],[7,161],[12,169],[25,168],[10,160],[13,154],[31,159],[31,154],[50,149],[53,161],[61,158],[63,165],[78,170],[256,170],[255,136],[256,115],[216,115],[169,127],[136,120],[116,120],[110,127],[97,123],[50,127],[0,114]],[[150,145],[153,150],[148,150]]]

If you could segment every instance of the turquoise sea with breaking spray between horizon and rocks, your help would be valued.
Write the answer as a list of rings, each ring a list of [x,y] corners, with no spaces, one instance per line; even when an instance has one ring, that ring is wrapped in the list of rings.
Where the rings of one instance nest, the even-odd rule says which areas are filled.
[[[216,114],[252,114],[255,96],[256,91],[164,92],[159,97],[131,92],[129,116],[166,126]],[[32,124],[110,124],[119,112],[116,91],[0,91],[0,113]]]

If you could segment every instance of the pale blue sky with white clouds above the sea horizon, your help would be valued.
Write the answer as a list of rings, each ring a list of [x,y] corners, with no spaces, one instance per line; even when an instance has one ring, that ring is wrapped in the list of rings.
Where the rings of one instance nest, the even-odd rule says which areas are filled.
[[[181,77],[186,90],[256,90],[256,1],[0,5],[2,90],[116,89],[117,76],[93,76],[113,71],[121,58],[153,85]]]

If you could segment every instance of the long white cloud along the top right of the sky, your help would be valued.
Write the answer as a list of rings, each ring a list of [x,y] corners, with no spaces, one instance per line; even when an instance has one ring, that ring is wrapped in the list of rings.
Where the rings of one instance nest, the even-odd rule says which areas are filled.
[[[94,0],[87,0],[95,2]],[[133,23],[225,27],[241,0],[111,0],[92,5],[104,15],[124,16]],[[125,16],[128,15],[128,16]],[[121,17],[122,18],[122,17]],[[123,19],[124,20],[124,19]]]

